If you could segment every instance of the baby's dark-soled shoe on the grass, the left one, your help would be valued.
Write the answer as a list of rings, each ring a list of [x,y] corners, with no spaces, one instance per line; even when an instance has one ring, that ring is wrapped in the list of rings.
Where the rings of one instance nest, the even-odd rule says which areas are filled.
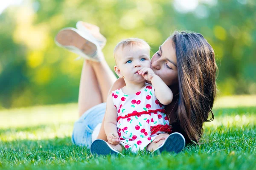
[[[106,141],[102,139],[95,140],[90,146],[90,152],[92,155],[122,155],[118,150],[111,147]]]

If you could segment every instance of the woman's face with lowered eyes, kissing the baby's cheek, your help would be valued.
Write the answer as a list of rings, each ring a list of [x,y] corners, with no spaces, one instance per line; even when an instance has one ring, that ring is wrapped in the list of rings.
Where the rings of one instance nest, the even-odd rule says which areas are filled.
[[[178,83],[176,51],[171,39],[167,39],[151,58],[151,69],[166,85]]]

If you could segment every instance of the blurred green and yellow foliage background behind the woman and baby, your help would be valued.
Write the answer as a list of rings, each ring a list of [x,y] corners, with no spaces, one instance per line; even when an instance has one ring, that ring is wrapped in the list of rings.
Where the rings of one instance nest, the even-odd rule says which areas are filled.
[[[82,60],[54,37],[79,20],[100,27],[111,68],[124,38],[154,54],[175,30],[201,33],[215,50],[218,95],[256,94],[255,0],[0,0],[0,109],[77,102]]]

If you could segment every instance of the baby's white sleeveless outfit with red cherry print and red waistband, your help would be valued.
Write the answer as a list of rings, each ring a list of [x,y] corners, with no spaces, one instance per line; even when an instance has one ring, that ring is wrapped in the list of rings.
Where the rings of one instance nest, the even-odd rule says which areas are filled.
[[[124,94],[122,89],[112,92],[117,109],[117,130],[126,149],[143,150],[159,133],[171,133],[164,106],[157,100],[154,88],[146,83],[136,94]]]

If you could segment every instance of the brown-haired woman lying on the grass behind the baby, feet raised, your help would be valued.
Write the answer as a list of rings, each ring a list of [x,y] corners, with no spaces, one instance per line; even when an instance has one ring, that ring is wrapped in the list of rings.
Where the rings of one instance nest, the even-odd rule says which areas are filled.
[[[105,39],[99,28],[83,22],[78,22],[77,28],[80,31],[74,28],[61,30],[55,41],[86,58],[79,87],[80,119],[74,125],[72,141],[90,146],[95,136],[107,141],[105,101],[109,91],[122,88],[125,82],[116,80],[104,59],[100,48],[104,47]],[[216,94],[217,66],[212,47],[201,34],[176,31],[151,58],[151,69],[174,94],[172,103],[166,106],[172,132],[181,133],[186,143],[198,143],[203,123],[214,119],[211,109]],[[208,120],[209,113],[212,116]],[[159,134],[154,143],[160,146],[168,136]]]

